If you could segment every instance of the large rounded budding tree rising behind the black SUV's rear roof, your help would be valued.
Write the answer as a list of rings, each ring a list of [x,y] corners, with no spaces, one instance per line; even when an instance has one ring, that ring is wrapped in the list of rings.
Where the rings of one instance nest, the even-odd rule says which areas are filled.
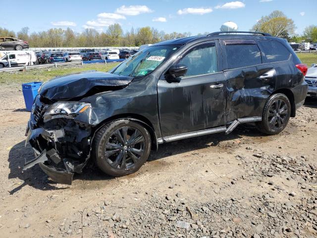
[[[281,11],[273,11],[267,16],[263,16],[251,31],[267,32],[275,37],[288,38],[294,34],[296,26],[294,21]]]

